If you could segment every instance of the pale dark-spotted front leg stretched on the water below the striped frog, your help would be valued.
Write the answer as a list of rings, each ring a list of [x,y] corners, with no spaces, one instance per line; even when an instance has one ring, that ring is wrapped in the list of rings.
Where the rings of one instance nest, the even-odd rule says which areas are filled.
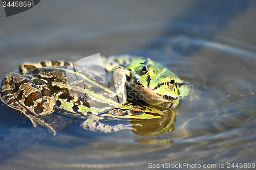
[[[86,130],[101,132],[101,133],[113,133],[113,132],[118,132],[124,129],[131,129],[136,131],[136,129],[133,128],[134,126],[133,124],[130,124],[130,125],[119,124],[119,125],[111,126],[108,124],[101,123],[100,122],[101,119],[104,119],[104,118],[93,115],[90,118],[88,118],[86,121],[84,121],[80,126]]]

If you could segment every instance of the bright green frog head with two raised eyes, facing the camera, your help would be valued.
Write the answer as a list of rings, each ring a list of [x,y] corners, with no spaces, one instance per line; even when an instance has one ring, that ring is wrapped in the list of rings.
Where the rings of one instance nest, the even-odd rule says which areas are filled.
[[[137,92],[139,100],[160,110],[170,110],[179,104],[179,86],[183,81],[172,71],[150,59],[131,63],[128,68],[133,74],[127,84]]]

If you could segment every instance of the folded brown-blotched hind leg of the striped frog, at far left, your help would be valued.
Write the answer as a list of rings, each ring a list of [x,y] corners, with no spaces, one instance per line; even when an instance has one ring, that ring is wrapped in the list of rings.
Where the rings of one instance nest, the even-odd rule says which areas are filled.
[[[22,112],[33,123],[55,130],[40,116],[54,111],[55,99],[49,87],[40,79],[22,76],[16,73],[8,74],[1,84],[1,100],[8,107]]]

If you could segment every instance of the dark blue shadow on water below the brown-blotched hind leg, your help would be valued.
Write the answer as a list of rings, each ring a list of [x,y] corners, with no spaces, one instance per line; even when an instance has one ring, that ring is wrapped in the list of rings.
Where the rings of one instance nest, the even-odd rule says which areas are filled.
[[[47,131],[45,128],[33,130],[33,125],[26,117],[15,114],[0,103],[0,161],[3,161],[44,139]]]

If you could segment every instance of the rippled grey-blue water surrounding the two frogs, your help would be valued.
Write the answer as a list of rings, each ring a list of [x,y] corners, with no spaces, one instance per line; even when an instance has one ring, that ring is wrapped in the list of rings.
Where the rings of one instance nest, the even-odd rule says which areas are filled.
[[[253,1],[61,2],[40,2],[12,17],[2,12],[2,77],[24,61],[126,53],[160,62],[193,89],[176,109],[173,130],[150,136],[131,130],[100,134],[76,123],[53,136],[1,106],[1,167],[148,169],[187,163],[220,169],[256,163]]]

